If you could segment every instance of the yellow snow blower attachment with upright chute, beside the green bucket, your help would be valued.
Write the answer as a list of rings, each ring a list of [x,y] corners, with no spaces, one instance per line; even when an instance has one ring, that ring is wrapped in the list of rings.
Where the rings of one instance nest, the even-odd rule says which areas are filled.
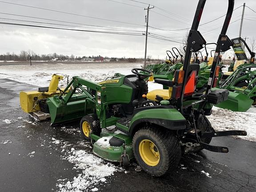
[[[57,90],[60,80],[63,76],[53,74],[49,87],[38,88],[38,91],[20,92],[20,107],[26,113],[44,111],[41,110],[38,100],[46,99],[54,95],[60,95],[60,90]]]

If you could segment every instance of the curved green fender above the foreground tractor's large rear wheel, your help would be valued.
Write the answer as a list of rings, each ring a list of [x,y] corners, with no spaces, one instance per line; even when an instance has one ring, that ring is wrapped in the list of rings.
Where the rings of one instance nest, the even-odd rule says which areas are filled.
[[[186,119],[174,108],[148,109],[136,113],[130,122],[128,132],[132,131],[140,123],[153,123],[170,130],[180,130],[186,128]]]

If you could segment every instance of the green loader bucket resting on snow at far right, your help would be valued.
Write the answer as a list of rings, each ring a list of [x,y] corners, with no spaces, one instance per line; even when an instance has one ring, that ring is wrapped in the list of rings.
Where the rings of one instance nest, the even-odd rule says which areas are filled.
[[[246,112],[252,103],[253,100],[243,93],[229,92],[228,99],[215,106],[234,112]]]

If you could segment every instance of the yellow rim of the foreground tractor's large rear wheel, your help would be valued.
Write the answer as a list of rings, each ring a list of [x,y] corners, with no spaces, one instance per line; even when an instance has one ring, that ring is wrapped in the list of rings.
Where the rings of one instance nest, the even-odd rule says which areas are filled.
[[[145,164],[156,166],[160,160],[160,154],[156,145],[151,140],[142,140],[139,144],[140,157]]]

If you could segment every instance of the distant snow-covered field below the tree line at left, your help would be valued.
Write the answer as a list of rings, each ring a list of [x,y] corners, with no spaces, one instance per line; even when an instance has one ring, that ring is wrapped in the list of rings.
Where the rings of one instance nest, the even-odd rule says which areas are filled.
[[[64,76],[64,80],[61,80],[59,85],[65,87],[67,79],[70,82],[72,76],[80,76],[92,82],[100,82],[108,76],[113,76],[116,72],[125,75],[132,74],[131,69],[140,68],[141,65],[141,63],[4,65],[0,69],[0,78],[46,87],[49,86],[52,75],[56,73]]]

